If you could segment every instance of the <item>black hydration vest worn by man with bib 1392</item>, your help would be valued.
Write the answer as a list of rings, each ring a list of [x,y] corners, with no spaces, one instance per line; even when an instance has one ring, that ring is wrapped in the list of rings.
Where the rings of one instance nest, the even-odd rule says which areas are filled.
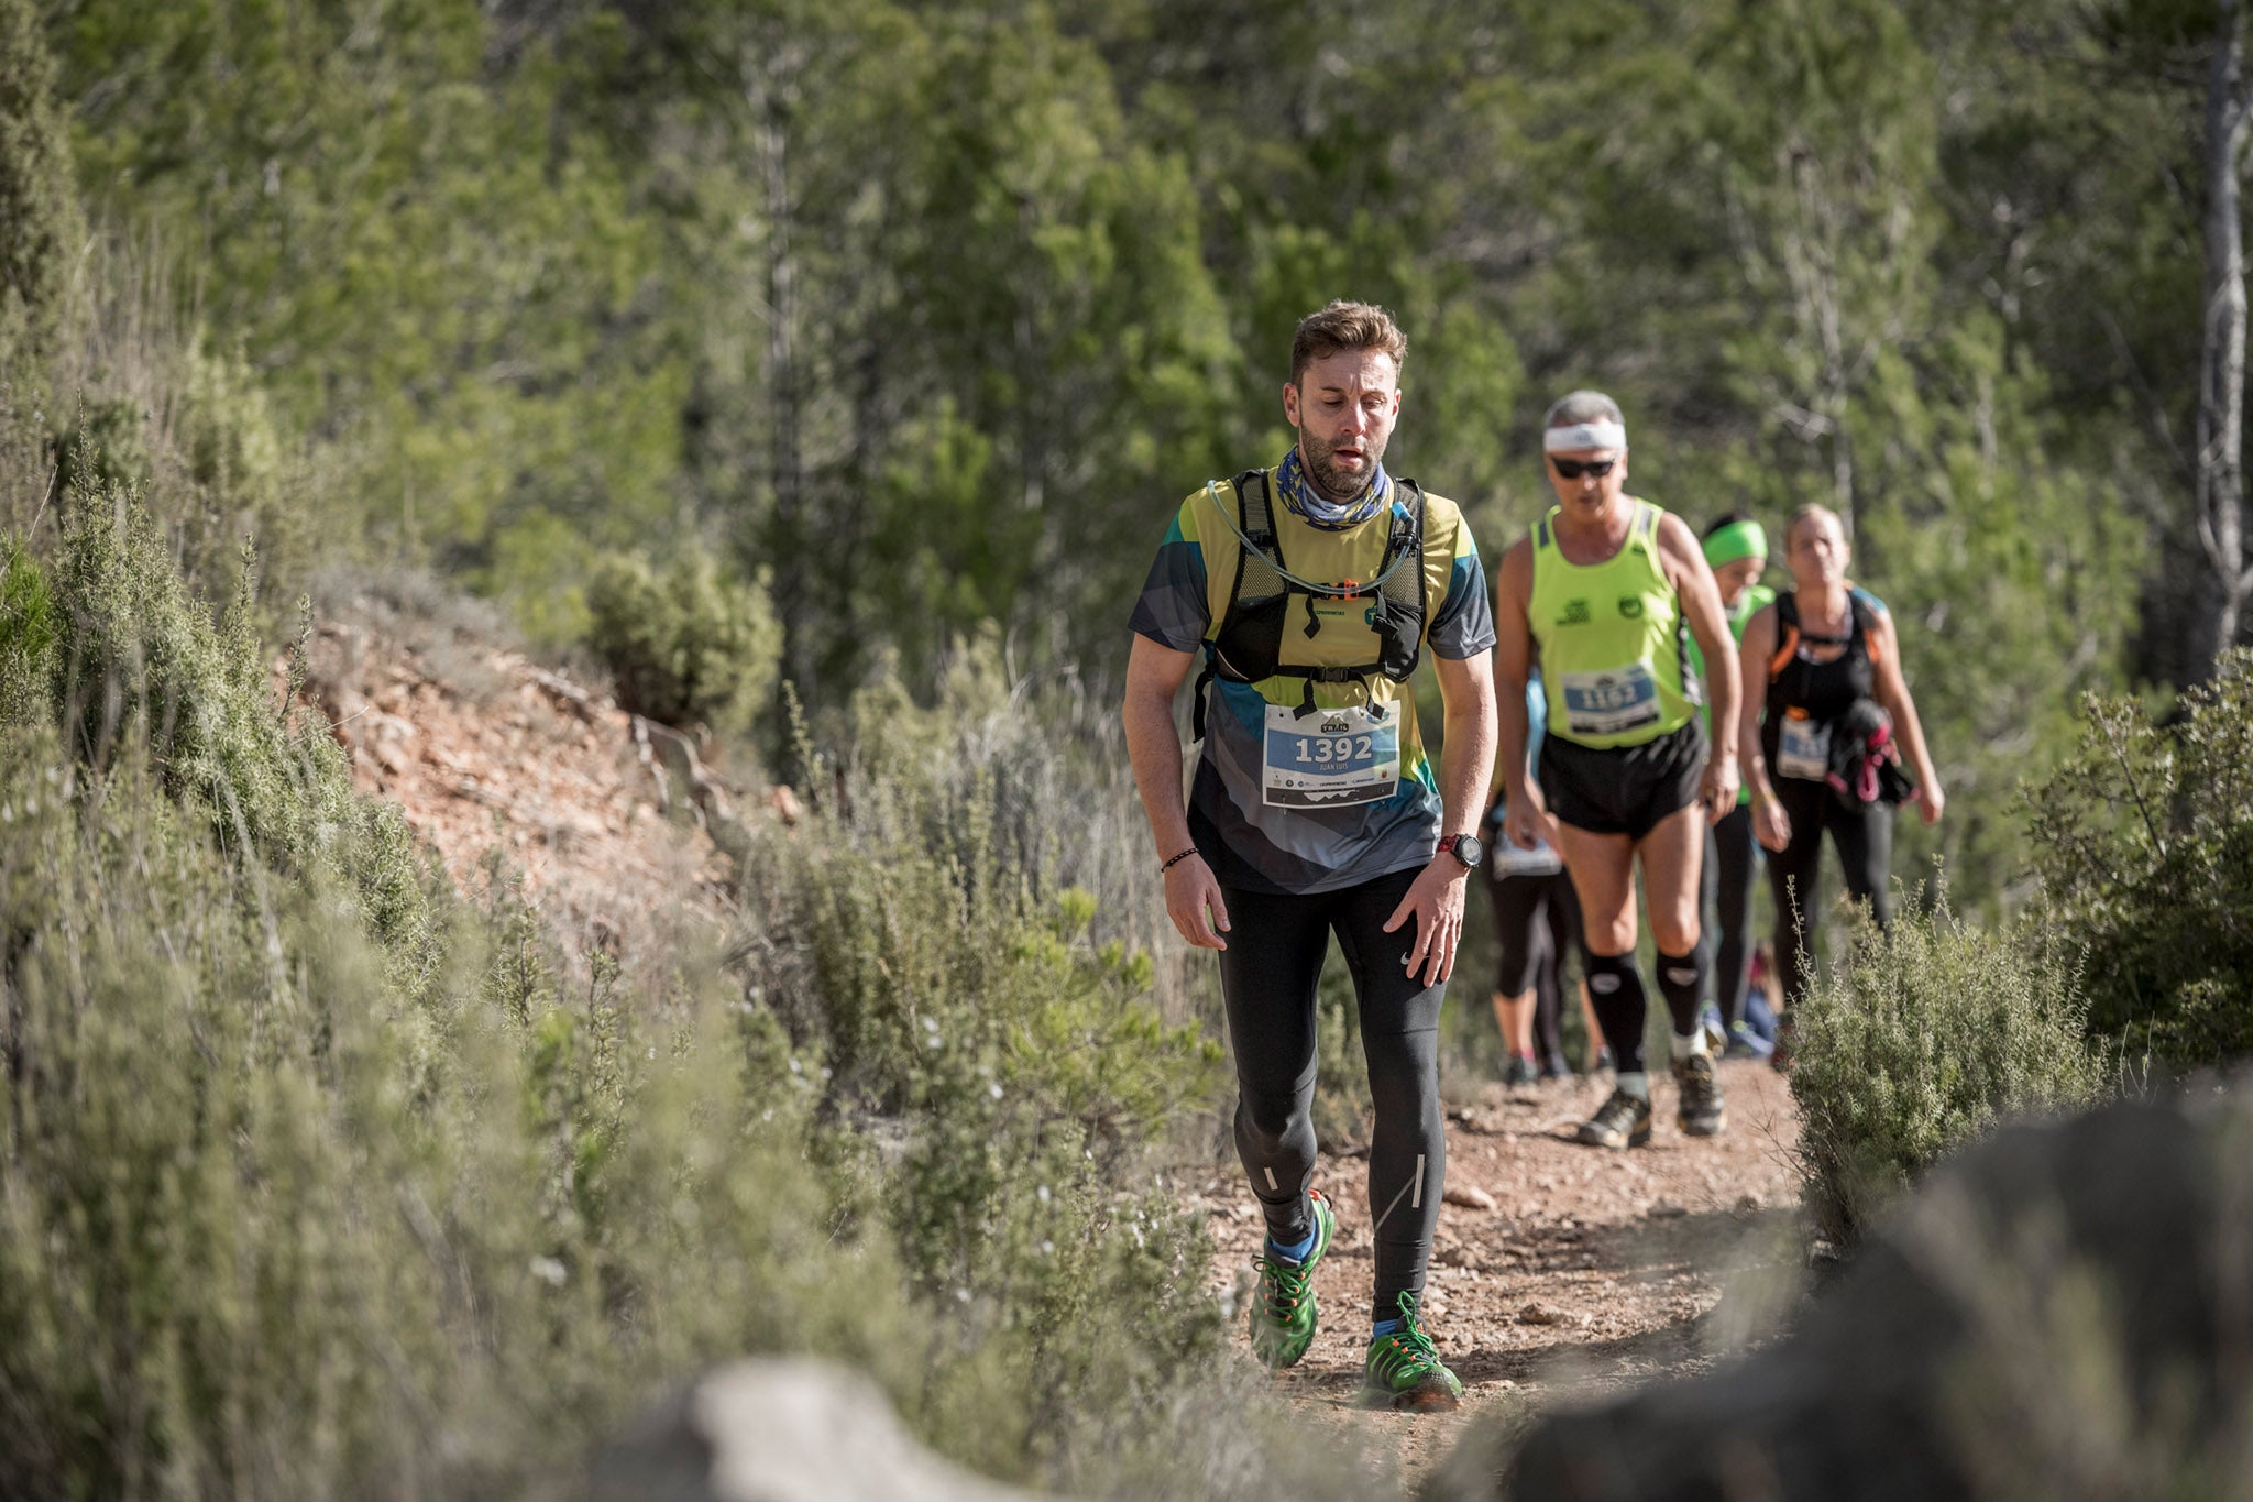
[[[1386,556],[1368,583],[1318,583],[1300,579],[1284,565],[1282,545],[1275,536],[1275,504],[1268,495],[1264,468],[1248,468],[1230,489],[1237,493],[1237,513],[1228,516],[1219,484],[1208,486],[1212,504],[1228,516],[1237,529],[1237,576],[1228,590],[1228,613],[1219,633],[1205,642],[1205,671],[1196,676],[1196,709],[1192,718],[1194,739],[1205,739],[1205,691],[1214,678],[1228,682],[1262,682],[1266,678],[1300,678],[1304,694],[1298,714],[1316,714],[1313,685],[1318,682],[1368,682],[1383,676],[1392,682],[1408,682],[1415,664],[1424,658],[1424,491],[1415,480],[1392,482],[1392,504],[1388,507],[1390,531],[1386,534]],[[1372,626],[1377,631],[1377,660],[1350,667],[1302,667],[1282,660],[1282,633],[1291,626],[1291,599],[1304,597],[1304,635],[1323,631],[1316,615],[1316,599],[1365,599],[1374,594]]]

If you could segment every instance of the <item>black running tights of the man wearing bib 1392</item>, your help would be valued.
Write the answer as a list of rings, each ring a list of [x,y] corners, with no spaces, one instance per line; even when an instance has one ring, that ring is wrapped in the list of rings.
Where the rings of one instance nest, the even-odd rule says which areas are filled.
[[[1379,1320],[1397,1313],[1401,1293],[1424,1293],[1446,1182],[1440,1119],[1440,998],[1446,986],[1426,986],[1401,966],[1415,946],[1415,919],[1383,932],[1415,878],[1415,869],[1395,871],[1313,896],[1223,894],[1230,928],[1221,991],[1237,1056],[1237,1155],[1266,1212],[1268,1236],[1284,1245],[1311,1230],[1313,991],[1332,935],[1352,973],[1377,1106],[1368,1187]]]

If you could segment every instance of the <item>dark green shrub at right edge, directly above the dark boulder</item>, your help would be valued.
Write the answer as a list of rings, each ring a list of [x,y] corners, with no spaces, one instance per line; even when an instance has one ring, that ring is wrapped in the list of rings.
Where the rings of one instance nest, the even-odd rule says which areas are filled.
[[[2167,1070],[2253,1049],[2253,653],[2154,725],[2089,698],[2075,757],[2028,797],[2057,921],[2086,944],[2089,1027]]]

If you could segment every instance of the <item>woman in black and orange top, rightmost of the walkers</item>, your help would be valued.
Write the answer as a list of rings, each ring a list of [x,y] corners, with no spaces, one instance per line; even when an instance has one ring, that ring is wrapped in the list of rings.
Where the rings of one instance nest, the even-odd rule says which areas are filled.
[[[1787,1009],[1807,993],[1825,831],[1847,894],[1886,928],[1893,806],[1915,799],[1926,824],[1940,822],[1947,806],[1902,678],[1893,615],[1847,579],[1850,558],[1836,511],[1793,511],[1784,529],[1793,588],[1753,615],[1742,644],[1739,759],[1753,788],[1753,833],[1771,851],[1775,968]],[[1782,1065],[1782,1031],[1775,1058]]]

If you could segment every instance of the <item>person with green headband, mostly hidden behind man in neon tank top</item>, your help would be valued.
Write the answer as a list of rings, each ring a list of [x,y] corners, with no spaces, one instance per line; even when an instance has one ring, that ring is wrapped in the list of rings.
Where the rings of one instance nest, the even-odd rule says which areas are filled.
[[[1721,590],[1721,608],[1728,613],[1728,635],[1744,642],[1744,624],[1775,599],[1775,590],[1760,583],[1760,574],[1769,567],[1769,534],[1757,520],[1728,511],[1706,527],[1703,547],[1712,581]],[[1690,642],[1690,667],[1699,678],[1706,676],[1706,653],[1697,642]],[[1706,732],[1712,734],[1710,723]],[[1703,944],[1712,955],[1710,1013],[1726,1045],[1721,1058],[1766,1058],[1775,1038],[1775,1018],[1766,1007],[1748,1016],[1755,849],[1753,795],[1751,788],[1739,788],[1737,806],[1706,833],[1699,892],[1699,910],[1706,914]]]

